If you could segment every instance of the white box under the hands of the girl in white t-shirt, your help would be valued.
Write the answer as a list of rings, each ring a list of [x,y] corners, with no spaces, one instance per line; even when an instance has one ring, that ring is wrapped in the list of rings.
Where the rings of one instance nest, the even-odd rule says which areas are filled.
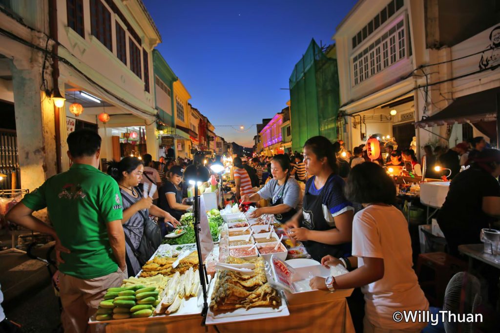
[[[315,261],[312,259],[290,259],[285,262],[288,263],[295,270],[297,276],[293,282],[294,287],[301,286],[303,291],[298,292],[285,292],[286,298],[290,305],[310,303],[311,300],[314,301],[328,301],[331,299],[339,299],[349,297],[352,293],[353,288],[350,289],[339,289],[333,292],[325,290],[312,290],[309,287],[309,280],[311,276],[321,276],[328,277],[332,275],[330,270],[322,266],[319,262],[315,261],[316,264],[301,265],[301,262],[306,262],[305,260],[311,260],[309,262]],[[299,263],[299,264],[296,264]]]

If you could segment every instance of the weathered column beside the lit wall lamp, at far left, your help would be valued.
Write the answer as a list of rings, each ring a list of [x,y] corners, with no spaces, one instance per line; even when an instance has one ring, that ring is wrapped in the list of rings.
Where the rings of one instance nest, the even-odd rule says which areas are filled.
[[[11,70],[21,188],[33,190],[56,173],[54,103],[40,91],[38,63],[15,62]]]

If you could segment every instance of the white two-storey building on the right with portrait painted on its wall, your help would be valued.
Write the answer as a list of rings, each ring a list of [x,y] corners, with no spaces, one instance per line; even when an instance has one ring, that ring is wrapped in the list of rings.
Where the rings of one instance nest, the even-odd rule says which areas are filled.
[[[454,146],[476,135],[473,124],[449,121],[415,131],[414,122],[460,96],[500,84],[498,70],[474,74],[481,54],[471,55],[492,43],[497,11],[466,0],[359,0],[333,36],[347,146],[376,134],[393,136],[406,148],[415,135],[418,153],[427,143]],[[462,135],[462,127],[470,133]]]

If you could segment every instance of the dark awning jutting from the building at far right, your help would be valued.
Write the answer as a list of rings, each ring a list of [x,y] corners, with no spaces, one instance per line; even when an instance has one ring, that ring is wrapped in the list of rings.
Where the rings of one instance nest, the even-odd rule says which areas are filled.
[[[496,87],[458,97],[438,113],[415,122],[415,127],[495,121],[499,93],[500,87]]]

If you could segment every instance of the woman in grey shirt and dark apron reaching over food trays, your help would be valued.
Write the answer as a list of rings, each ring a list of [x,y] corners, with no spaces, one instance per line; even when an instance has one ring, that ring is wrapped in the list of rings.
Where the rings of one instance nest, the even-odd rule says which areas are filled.
[[[242,202],[257,202],[260,199],[270,199],[271,206],[255,209],[250,214],[250,217],[255,218],[262,214],[274,214],[277,221],[284,223],[295,214],[300,186],[293,177],[290,177],[290,167],[288,156],[278,154],[272,157],[272,179],[258,192],[241,197]]]

